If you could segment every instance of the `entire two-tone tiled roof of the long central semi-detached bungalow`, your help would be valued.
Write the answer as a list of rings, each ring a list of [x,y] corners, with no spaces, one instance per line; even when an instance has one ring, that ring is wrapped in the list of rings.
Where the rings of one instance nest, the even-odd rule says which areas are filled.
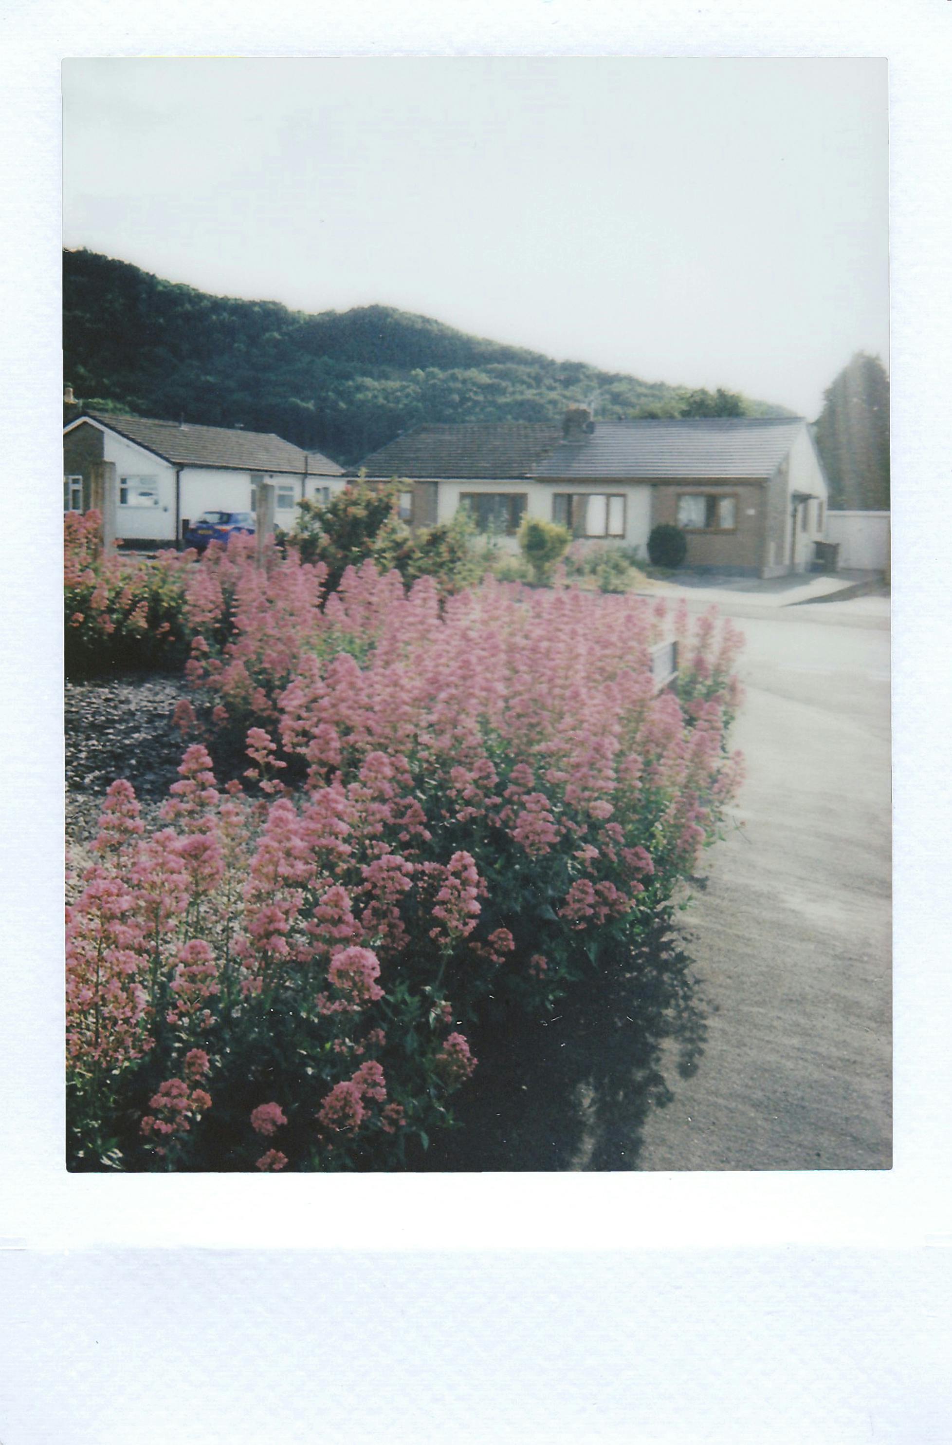
[[[417,426],[373,452],[368,477],[770,477],[803,426],[797,418],[595,422],[565,441],[549,422]]]

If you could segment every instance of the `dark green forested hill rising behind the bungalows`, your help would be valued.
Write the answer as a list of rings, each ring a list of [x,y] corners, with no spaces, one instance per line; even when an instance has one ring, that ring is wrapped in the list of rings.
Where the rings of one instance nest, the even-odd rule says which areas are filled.
[[[342,464],[420,422],[786,415],[483,341],[393,306],[308,315],[64,251],[64,377],[88,407],[277,432]]]

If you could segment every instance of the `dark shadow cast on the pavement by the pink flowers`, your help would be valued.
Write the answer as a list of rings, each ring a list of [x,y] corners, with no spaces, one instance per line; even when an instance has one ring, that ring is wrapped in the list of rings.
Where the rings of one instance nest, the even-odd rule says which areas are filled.
[[[604,971],[550,1019],[497,1006],[472,1033],[480,1066],[425,1170],[637,1169],[644,1120],[692,1075],[705,1006],[669,916],[628,968]]]

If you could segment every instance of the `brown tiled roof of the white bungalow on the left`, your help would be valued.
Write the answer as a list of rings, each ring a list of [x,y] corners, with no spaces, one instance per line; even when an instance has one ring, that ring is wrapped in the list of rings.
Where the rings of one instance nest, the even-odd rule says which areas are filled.
[[[117,416],[87,412],[88,418],[146,447],[176,467],[234,467],[237,471],[289,471],[300,475],[341,477],[342,468],[322,457],[286,442],[273,432],[233,431],[227,426],[195,426],[186,422],[157,422],[149,416]]]

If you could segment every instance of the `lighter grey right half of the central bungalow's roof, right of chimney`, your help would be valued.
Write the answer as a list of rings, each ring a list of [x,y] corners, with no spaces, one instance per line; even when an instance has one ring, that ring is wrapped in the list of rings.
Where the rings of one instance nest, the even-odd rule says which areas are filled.
[[[533,477],[770,477],[790,451],[802,418],[678,418],[595,422],[561,441]]]

